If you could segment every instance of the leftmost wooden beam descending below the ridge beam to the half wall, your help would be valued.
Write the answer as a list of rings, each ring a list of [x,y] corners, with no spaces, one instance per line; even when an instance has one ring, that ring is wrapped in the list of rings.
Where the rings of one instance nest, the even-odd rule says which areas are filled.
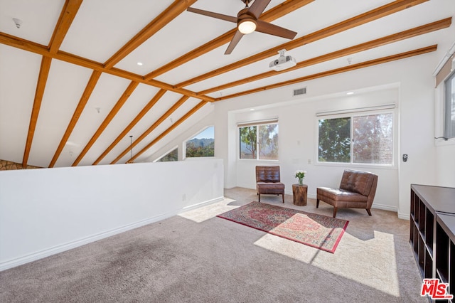
[[[36,123],[38,122],[38,115],[41,110],[41,102],[43,101],[45,84],[48,81],[50,63],[52,63],[52,58],[43,57],[41,59],[41,68],[38,75],[38,83],[36,84],[35,100],[33,101],[33,108],[31,110],[30,123],[28,123],[26,147],[23,151],[22,167],[24,169],[27,168],[28,156],[30,155],[31,144],[33,142],[33,136],[35,135]]]

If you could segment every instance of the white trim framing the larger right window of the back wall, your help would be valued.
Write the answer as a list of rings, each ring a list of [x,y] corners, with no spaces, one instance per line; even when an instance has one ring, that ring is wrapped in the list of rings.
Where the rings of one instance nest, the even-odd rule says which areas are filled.
[[[395,105],[384,105],[384,106],[378,106],[378,107],[365,107],[364,109],[369,109],[369,110],[360,110],[360,109],[355,109],[355,110],[346,110],[342,111],[342,113],[337,113],[337,112],[329,112],[328,115],[318,115],[321,113],[316,113],[316,119],[315,119],[315,124],[316,126],[314,127],[316,134],[316,142],[314,144],[315,146],[315,159],[314,159],[314,165],[316,166],[345,166],[345,167],[350,167],[353,169],[360,169],[360,168],[372,168],[372,169],[397,169],[397,164],[399,163],[398,158],[398,113],[397,113],[397,108]],[[336,119],[336,118],[346,118],[346,117],[362,117],[362,116],[368,116],[368,115],[381,115],[381,114],[392,114],[392,119],[393,119],[393,155],[392,155],[392,164],[368,164],[368,163],[353,163],[352,162],[352,144],[350,144],[350,162],[320,162],[319,161],[319,120],[320,119]],[[352,121],[351,121],[352,123]],[[353,129],[350,129],[350,135],[352,137],[352,131]],[[352,138],[351,138],[352,139]]]

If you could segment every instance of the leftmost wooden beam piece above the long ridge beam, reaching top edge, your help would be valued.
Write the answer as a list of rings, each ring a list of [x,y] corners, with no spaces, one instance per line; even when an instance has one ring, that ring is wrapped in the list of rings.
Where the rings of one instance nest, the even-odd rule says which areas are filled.
[[[82,0],[66,0],[65,5],[58,18],[57,26],[53,32],[52,38],[50,38],[49,51],[50,53],[57,53],[58,49],[63,43],[63,39],[70,29],[71,23],[79,11]]]

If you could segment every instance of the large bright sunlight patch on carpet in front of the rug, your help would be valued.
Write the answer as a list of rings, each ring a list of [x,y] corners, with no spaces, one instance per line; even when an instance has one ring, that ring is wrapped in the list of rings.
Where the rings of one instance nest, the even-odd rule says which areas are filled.
[[[346,232],[336,254],[324,253],[269,234],[259,238],[255,245],[400,297],[394,235],[378,230],[374,230],[374,235],[370,240],[360,240]],[[357,262],[352,262],[353,255]]]

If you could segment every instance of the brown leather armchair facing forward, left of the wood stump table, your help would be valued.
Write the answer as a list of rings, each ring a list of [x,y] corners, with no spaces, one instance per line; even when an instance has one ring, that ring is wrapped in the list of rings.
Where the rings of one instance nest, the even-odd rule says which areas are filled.
[[[256,166],[256,190],[261,194],[282,195],[284,203],[284,184],[279,179],[279,166]]]

